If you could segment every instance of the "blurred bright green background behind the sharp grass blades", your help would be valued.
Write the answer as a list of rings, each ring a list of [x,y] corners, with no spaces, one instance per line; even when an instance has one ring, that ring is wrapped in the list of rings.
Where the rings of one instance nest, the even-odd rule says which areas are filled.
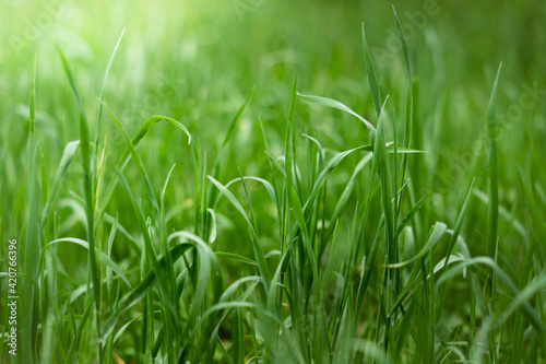
[[[500,193],[510,210],[517,192],[511,186],[520,178],[515,166],[529,164],[530,155],[544,152],[543,1],[2,1],[2,238],[17,235],[24,226],[24,214],[10,211],[25,207],[25,184],[17,180],[26,180],[22,166],[27,165],[23,151],[34,55],[38,59],[37,133],[54,161],[51,166],[59,161],[63,145],[79,138],[76,103],[62,75],[56,43],[71,61],[94,120],[106,63],[127,27],[106,84],[106,103],[130,134],[146,117],[166,115],[188,126],[211,153],[245,95],[256,87],[237,131],[237,148],[226,156],[233,167],[224,169],[225,178],[232,178],[238,175],[237,166],[253,174],[268,161],[259,117],[274,151],[282,148],[275,141],[284,134],[289,85],[296,72],[299,92],[339,99],[373,119],[361,23],[376,57],[381,93],[391,95],[390,107],[403,108],[407,81],[393,4],[418,82],[412,145],[430,152],[416,163],[437,168],[429,185],[420,184],[422,188],[435,186],[429,192],[440,193],[432,199],[437,206],[431,220],[450,213],[448,218],[454,219],[455,210],[446,207],[458,193],[448,192],[459,190],[476,154],[483,157],[474,167],[486,167],[485,117],[500,61],[503,71],[497,111],[506,126],[499,141],[500,178],[506,181]],[[367,140],[364,128],[347,116],[305,103],[298,107],[301,131],[316,136],[327,148],[345,150]],[[192,181],[193,176],[186,173],[191,153],[179,148],[186,137],[161,126],[152,134],[141,150],[145,164],[157,168],[155,186],[161,186],[175,162],[182,164],[175,172],[178,178]],[[110,153],[122,150],[118,132],[111,133],[109,142]],[[434,150],[437,145],[441,148]],[[71,173],[78,180],[78,172]],[[485,188],[484,184],[478,176],[478,186]],[[179,209],[188,208],[191,183],[176,186],[173,193],[181,201]]]

